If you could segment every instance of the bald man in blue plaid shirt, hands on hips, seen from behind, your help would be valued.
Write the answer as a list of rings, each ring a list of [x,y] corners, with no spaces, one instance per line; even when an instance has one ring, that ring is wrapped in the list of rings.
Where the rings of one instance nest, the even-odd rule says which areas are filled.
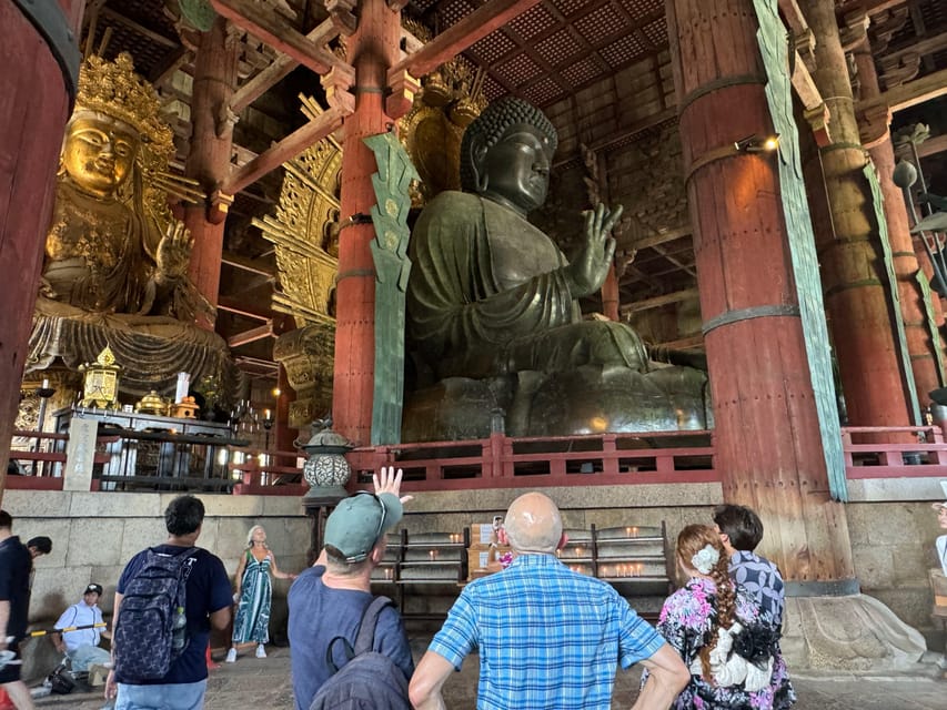
[[[414,708],[444,708],[444,682],[478,650],[478,710],[608,710],[615,667],[637,662],[651,679],[632,710],[666,710],[687,668],[612,586],[558,561],[556,505],[528,493],[504,525],[513,564],[464,587],[411,680]]]

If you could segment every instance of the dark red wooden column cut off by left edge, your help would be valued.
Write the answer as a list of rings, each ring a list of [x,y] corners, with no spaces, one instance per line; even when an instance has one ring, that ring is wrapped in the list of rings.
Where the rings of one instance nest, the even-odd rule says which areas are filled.
[[[74,39],[82,24],[83,0],[46,3],[57,18],[61,53],[74,77],[67,79],[47,39],[10,0],[0,0],[0,499],[7,457],[20,402],[43,243],[56,199],[56,169],[69,119],[69,92],[78,80]],[[57,13],[60,10],[60,13]],[[56,39],[53,41],[56,41]],[[70,88],[71,84],[71,88]]]

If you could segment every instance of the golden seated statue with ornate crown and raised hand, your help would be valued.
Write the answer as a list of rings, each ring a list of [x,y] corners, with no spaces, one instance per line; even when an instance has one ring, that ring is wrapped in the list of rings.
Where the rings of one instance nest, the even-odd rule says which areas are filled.
[[[188,278],[191,240],[169,194],[170,126],[131,57],[89,57],[60,158],[28,372],[69,369],[111,347],[123,388],[143,395],[179,372],[220,376],[226,346],[193,325],[206,302]]]

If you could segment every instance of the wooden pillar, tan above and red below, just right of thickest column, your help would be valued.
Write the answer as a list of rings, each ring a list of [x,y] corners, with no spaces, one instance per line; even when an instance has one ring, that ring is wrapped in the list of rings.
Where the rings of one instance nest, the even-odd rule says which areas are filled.
[[[813,79],[830,114],[832,141],[819,149],[830,214],[815,227],[848,419],[859,426],[910,424],[888,277],[863,174],[868,155],[855,120],[835,2],[800,0],[799,6],[815,34]]]

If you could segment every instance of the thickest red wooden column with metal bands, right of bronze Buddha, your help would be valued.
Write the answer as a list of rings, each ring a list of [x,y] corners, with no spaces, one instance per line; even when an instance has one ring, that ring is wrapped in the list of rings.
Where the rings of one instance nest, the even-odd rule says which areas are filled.
[[[666,7],[724,498],[764,519],[763,554],[792,594],[844,594],[852,547],[828,493],[777,158],[734,149],[773,131],[753,2]]]

